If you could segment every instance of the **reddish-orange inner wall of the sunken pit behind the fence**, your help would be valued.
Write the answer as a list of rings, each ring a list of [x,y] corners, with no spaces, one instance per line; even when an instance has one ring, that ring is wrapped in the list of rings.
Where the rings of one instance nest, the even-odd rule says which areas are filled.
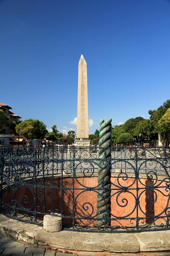
[[[111,178],[111,217],[124,218],[122,220],[112,220],[111,225],[127,225],[133,226],[136,224],[132,218],[137,217],[137,208],[135,204],[135,198],[137,197],[137,182],[138,182],[138,196],[139,196],[139,208],[138,216],[140,218],[146,217],[148,219],[140,220],[139,225],[149,224],[154,220],[152,215],[166,215],[163,213],[166,206],[170,206],[168,202],[168,191],[166,192],[166,182],[162,182],[161,187],[146,190],[145,186],[158,186],[161,181],[151,181],[145,177],[140,177],[138,181],[135,181],[134,177],[125,178],[122,174],[117,177]],[[154,183],[156,182],[156,183]],[[61,204],[63,204],[63,215],[71,216],[72,204],[75,203],[75,217],[89,216],[94,217],[96,215],[96,204],[97,204],[97,177],[78,177],[75,179],[75,183],[72,183],[72,178],[65,177],[63,179],[63,187],[69,188],[61,192],[61,178],[55,178],[55,180],[47,179],[44,182],[46,188],[40,188],[43,181],[39,179],[37,181],[35,199],[35,187],[32,182],[28,182],[26,186],[17,185],[18,188],[15,190],[14,185],[4,190],[2,200],[10,205],[15,204],[16,207],[24,207],[30,211],[34,211],[35,207],[39,211],[38,216],[44,214],[44,198],[46,199],[46,213],[48,211],[58,210],[61,213]],[[53,186],[53,188],[51,187]],[[74,194],[72,188],[75,188]],[[126,192],[121,193],[122,187],[126,187]],[[87,191],[86,188],[94,188],[95,191]],[[62,194],[62,195],[61,195]],[[61,199],[63,197],[63,200]],[[74,199],[74,200],[73,200]],[[155,200],[155,202],[154,202]],[[63,202],[63,203],[62,203]],[[120,204],[120,205],[118,205]],[[84,206],[83,206],[84,205]],[[22,208],[22,213],[25,213]],[[30,213],[31,214],[31,213]],[[32,214],[31,214],[32,215]],[[71,222],[72,220],[65,219],[65,222]],[[162,222],[163,219],[157,220]],[[164,220],[165,221],[165,220]],[[93,220],[76,220],[80,224],[90,224]],[[95,221],[93,222],[95,224]]]

